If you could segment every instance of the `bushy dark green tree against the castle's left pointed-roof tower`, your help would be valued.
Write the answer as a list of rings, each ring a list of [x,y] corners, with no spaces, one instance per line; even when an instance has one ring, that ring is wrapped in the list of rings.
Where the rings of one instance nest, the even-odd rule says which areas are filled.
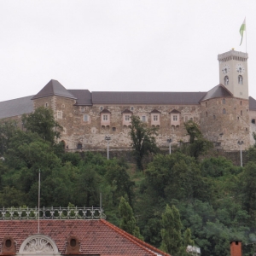
[[[38,133],[45,141],[54,144],[55,139],[61,137],[63,127],[55,121],[54,113],[50,108],[40,107],[34,113],[22,116],[26,131]]]

